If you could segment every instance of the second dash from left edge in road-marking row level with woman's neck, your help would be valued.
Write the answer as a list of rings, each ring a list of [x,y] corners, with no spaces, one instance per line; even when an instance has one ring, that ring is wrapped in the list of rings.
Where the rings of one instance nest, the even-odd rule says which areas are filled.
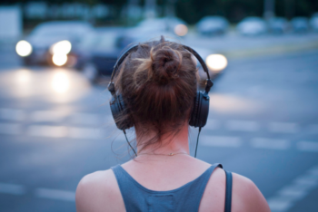
[[[63,126],[33,125],[28,127],[29,136],[64,138],[67,136],[68,129]]]

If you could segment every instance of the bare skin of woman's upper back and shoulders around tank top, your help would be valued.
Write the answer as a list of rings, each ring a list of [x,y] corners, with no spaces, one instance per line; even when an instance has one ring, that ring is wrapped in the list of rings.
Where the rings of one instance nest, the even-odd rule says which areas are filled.
[[[163,157],[164,159],[162,159]],[[171,191],[182,188],[189,182],[200,178],[210,168],[210,164],[187,155],[144,155],[122,165],[124,172],[129,174],[138,184],[154,191]],[[131,195],[133,198],[134,193],[132,192]],[[196,198],[195,195],[198,195],[198,192],[194,190],[192,195],[188,198]],[[186,200],[184,199],[184,201]],[[224,203],[225,174],[223,169],[216,168],[207,181],[198,211],[223,212]],[[180,207],[186,205],[186,202],[176,202],[174,204]],[[123,194],[111,169],[94,172],[81,180],[76,191],[76,207],[79,212],[134,211],[125,208]],[[188,208],[188,211],[193,211],[190,207]],[[270,211],[270,209],[263,195],[251,180],[234,174],[232,211],[262,212]]]

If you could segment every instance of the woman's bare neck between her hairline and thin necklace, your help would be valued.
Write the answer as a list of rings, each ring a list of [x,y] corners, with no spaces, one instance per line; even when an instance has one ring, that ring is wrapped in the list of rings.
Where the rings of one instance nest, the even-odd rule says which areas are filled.
[[[137,155],[143,154],[164,154],[169,155],[171,153],[186,153],[190,154],[189,151],[189,125],[188,123],[184,123],[184,126],[177,133],[165,134],[162,140],[158,140],[155,144],[151,144],[148,146],[144,146],[147,140],[151,140],[154,138],[154,132],[148,133],[143,137],[138,136],[138,131],[136,132],[136,140],[138,144]],[[161,145],[158,145],[161,143]],[[144,147],[144,148],[143,148]]]

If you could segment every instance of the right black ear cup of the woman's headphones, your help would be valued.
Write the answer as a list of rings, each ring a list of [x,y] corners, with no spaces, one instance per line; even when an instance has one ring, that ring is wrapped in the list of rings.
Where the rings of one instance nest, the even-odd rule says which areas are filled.
[[[194,99],[194,110],[191,114],[189,125],[194,128],[202,128],[206,124],[209,115],[210,98],[203,92],[197,92]]]

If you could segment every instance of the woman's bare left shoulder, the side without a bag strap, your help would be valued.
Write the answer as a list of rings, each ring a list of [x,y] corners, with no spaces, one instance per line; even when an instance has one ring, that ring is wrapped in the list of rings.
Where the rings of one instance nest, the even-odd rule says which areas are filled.
[[[124,201],[112,169],[84,176],[76,188],[75,201],[78,212],[124,211]]]

